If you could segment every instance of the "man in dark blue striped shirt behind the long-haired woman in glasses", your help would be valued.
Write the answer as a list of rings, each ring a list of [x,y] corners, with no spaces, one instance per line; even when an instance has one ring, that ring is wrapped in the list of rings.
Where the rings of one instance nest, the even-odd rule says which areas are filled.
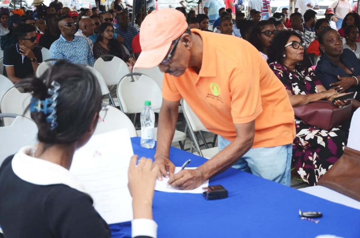
[[[124,37],[123,45],[132,52],[132,39],[139,34],[135,27],[130,26],[129,15],[126,12],[122,12],[116,15],[118,28],[115,29],[115,33]]]

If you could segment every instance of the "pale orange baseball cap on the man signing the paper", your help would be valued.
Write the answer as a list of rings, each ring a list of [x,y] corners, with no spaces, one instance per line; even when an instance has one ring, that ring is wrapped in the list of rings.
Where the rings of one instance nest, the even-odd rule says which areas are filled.
[[[141,53],[134,68],[152,68],[161,63],[176,40],[188,28],[184,14],[175,9],[160,9],[147,15],[141,23]]]

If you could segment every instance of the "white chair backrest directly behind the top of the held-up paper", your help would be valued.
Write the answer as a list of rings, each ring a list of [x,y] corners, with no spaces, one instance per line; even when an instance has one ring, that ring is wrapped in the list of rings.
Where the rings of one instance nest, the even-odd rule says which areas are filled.
[[[107,113],[104,120],[100,121],[96,126],[94,134],[101,134],[117,129],[127,128],[130,137],[137,136],[134,124],[131,120],[119,109],[113,106],[107,106]]]

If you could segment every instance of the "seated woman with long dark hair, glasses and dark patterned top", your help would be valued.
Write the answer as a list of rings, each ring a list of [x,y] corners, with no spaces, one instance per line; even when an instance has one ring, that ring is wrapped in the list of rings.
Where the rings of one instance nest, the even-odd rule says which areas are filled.
[[[103,55],[114,55],[123,61],[128,66],[133,66],[135,64],[135,59],[127,55],[122,44],[113,39],[114,27],[109,22],[101,23],[99,27],[99,36],[96,39],[96,42],[93,46],[93,53],[95,59]],[[104,57],[104,61],[110,61],[110,57]]]

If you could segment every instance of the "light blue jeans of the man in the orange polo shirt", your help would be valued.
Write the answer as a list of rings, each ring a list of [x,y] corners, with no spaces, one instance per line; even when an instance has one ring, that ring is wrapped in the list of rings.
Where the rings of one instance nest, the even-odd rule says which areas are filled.
[[[221,136],[217,138],[219,151],[231,143]],[[233,168],[290,186],[291,156],[292,144],[251,148],[233,165]]]

